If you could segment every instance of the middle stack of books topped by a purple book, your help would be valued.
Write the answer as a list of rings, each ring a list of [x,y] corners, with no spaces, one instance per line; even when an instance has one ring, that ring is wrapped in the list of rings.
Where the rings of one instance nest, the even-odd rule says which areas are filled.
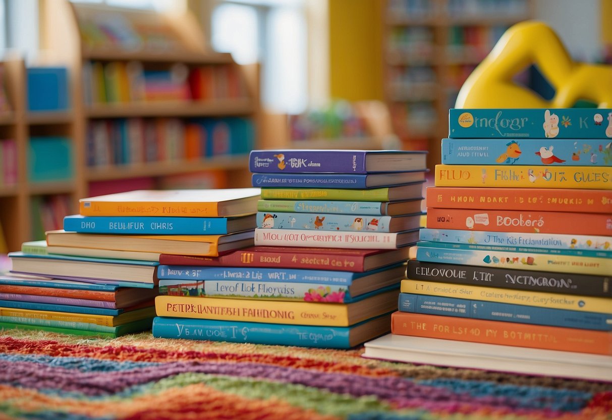
[[[154,336],[349,348],[388,332],[418,239],[425,158],[252,151],[255,247],[162,255]]]

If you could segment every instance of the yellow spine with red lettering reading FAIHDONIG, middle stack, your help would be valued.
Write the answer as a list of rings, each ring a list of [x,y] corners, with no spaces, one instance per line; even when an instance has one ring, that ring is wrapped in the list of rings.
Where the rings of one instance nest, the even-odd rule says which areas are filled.
[[[158,317],[349,326],[348,307],[346,305],[313,302],[157,296],[155,298],[155,313]],[[360,319],[357,322],[363,320]]]

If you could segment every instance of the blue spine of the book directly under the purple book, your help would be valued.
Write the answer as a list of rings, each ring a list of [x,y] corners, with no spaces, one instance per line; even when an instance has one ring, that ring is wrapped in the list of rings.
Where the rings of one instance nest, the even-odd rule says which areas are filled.
[[[362,174],[259,174],[252,175],[253,187],[354,188],[366,189]]]

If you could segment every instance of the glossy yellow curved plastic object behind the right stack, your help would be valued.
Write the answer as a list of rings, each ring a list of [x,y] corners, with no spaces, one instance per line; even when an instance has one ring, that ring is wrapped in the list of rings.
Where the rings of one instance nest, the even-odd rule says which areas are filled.
[[[552,100],[512,80],[531,64],[553,86]],[[570,108],[578,100],[612,108],[612,66],[573,61],[547,24],[524,21],[509,28],[469,75],[455,108]]]

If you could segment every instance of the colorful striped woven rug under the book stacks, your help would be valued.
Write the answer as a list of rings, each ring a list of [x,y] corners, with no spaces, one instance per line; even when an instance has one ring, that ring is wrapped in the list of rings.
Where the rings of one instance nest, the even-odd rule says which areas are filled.
[[[0,331],[0,420],[612,419],[612,384],[361,353]]]

